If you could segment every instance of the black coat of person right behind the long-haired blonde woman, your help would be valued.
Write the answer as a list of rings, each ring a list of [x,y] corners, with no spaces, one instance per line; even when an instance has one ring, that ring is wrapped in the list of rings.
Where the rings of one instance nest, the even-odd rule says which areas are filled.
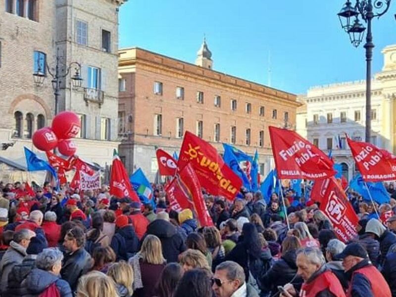
[[[162,254],[168,263],[177,262],[178,255],[186,250],[182,236],[168,221],[152,221],[148,224],[146,234],[155,235],[159,238],[162,244]]]

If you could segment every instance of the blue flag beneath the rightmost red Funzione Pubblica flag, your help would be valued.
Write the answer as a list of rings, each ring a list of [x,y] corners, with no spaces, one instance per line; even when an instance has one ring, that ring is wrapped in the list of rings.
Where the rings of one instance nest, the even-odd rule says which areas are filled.
[[[366,186],[364,185],[361,174],[357,174],[349,183],[349,187],[359,193],[364,200],[370,201],[369,193],[367,192]],[[388,191],[382,182],[367,183],[367,187],[370,191],[371,198],[379,204],[389,203],[390,196]]]

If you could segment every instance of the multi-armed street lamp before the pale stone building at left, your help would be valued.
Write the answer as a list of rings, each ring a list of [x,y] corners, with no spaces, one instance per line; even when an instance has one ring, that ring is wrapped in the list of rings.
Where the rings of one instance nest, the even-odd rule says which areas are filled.
[[[71,77],[73,87],[81,87],[83,78],[81,77],[81,64],[78,62],[70,62],[68,65],[66,65],[65,56],[59,54],[59,48],[56,50],[55,61],[55,67],[50,68],[47,61],[44,65],[44,63],[40,61],[40,56],[38,56],[38,68],[37,71],[33,73],[33,81],[37,87],[42,86],[46,78],[45,69],[42,69],[42,65],[43,67],[47,68],[49,75],[52,77],[51,84],[53,89],[53,95],[55,96],[56,115],[58,113],[58,98],[60,95],[60,84],[62,82],[62,79],[69,75],[70,69],[73,67],[75,71],[74,75]]]

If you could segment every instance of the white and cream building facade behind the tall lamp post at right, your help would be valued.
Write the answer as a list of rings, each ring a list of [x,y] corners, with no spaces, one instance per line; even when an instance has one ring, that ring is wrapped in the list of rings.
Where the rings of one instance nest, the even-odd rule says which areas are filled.
[[[372,80],[371,143],[396,153],[396,46],[386,47],[382,52],[383,69]],[[313,87],[302,97],[306,113],[297,115],[297,126],[306,122],[307,139],[326,152],[332,150],[335,162],[342,163],[349,180],[357,169],[346,134],[352,140],[365,139],[365,90],[364,80]]]

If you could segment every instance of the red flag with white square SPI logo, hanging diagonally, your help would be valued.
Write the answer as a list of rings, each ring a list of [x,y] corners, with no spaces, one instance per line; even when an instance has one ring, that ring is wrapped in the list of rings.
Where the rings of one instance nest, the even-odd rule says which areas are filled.
[[[333,223],[337,237],[347,243],[357,236],[356,226],[359,218],[336,179],[333,177],[329,181],[326,193],[320,204],[320,210]]]

